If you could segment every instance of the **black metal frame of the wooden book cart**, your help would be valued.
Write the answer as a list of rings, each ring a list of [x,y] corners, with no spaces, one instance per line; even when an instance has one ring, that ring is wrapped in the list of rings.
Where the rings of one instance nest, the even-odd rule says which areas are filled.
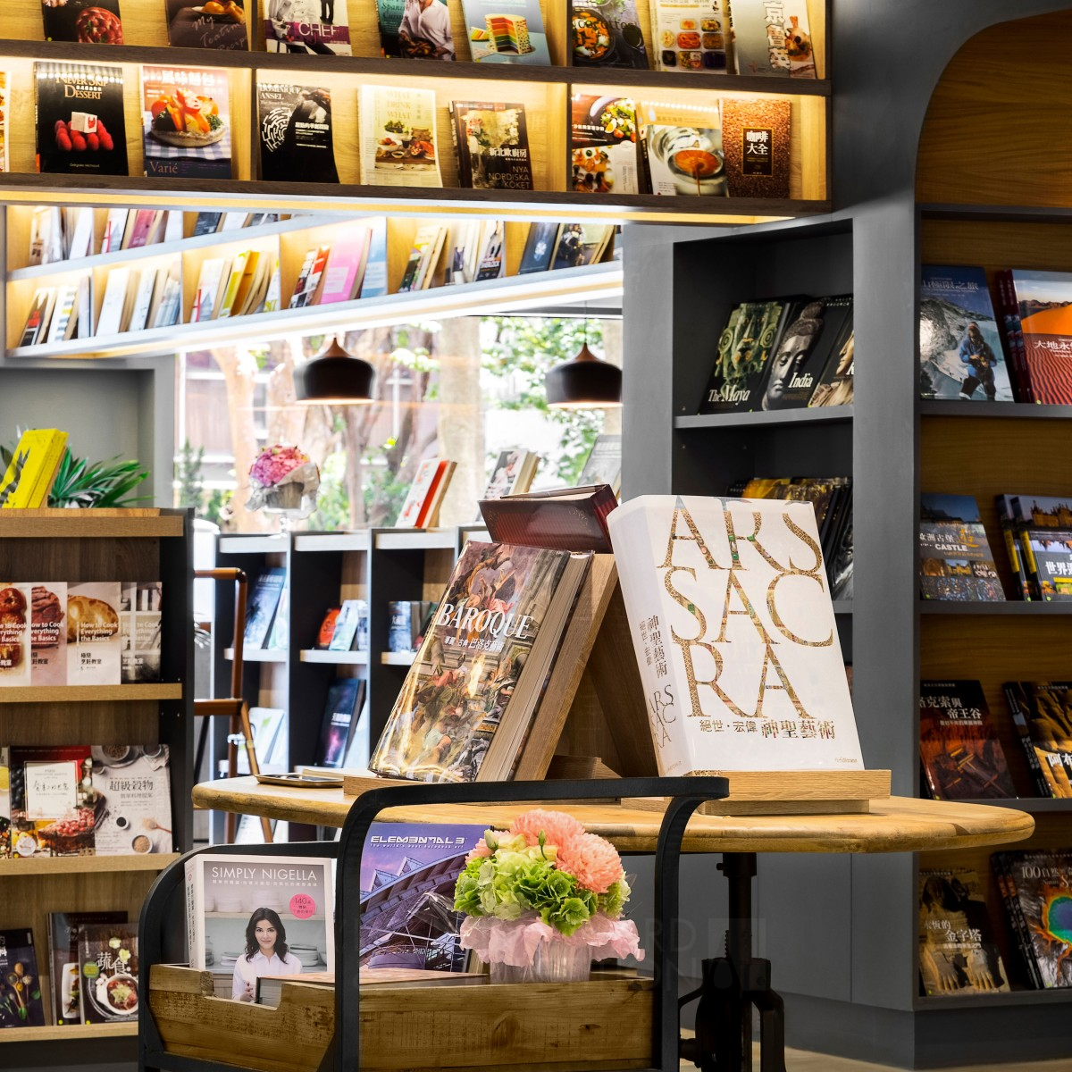
[[[669,796],[655,851],[654,968],[657,998],[653,1010],[652,1043],[657,1062],[647,1072],[678,1072],[680,1026],[678,1002],[678,863],[682,838],[693,813],[708,800],[721,800],[725,778],[615,779],[615,796]],[[269,855],[337,857],[336,872],[336,1036],[321,1072],[355,1072],[360,1068],[358,951],[361,851],[373,820],[389,807],[428,804],[517,804],[602,800],[606,780],[503,781],[472,785],[392,786],[357,798],[339,842],[306,842],[257,846]],[[187,853],[153,883],[142,907],[138,925],[138,1069],[140,1072],[233,1072],[236,1067],[165,1053],[149,1004],[149,972],[153,964],[178,963],[183,957],[185,862],[202,852],[239,853],[250,846],[210,846]],[[343,970],[344,965],[354,965]]]

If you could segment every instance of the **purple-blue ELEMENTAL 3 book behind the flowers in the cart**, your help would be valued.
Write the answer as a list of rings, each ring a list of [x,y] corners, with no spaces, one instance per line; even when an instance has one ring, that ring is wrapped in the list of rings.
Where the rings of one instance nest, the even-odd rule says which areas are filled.
[[[481,837],[475,824],[373,822],[361,852],[362,971],[464,971],[455,881]]]

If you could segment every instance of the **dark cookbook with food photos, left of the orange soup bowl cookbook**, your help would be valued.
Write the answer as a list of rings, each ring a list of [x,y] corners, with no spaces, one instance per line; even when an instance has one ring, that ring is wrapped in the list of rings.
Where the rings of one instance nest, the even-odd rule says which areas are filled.
[[[569,102],[570,189],[646,193],[637,105],[628,96],[574,93]]]

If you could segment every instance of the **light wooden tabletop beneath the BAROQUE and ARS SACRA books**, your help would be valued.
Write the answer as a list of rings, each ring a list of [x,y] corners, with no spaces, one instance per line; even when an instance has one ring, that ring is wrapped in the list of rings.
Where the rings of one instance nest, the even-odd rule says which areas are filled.
[[[356,798],[341,789],[260,786],[256,778],[223,778],[194,786],[196,807],[270,819],[341,827]],[[509,825],[525,805],[394,807],[381,813],[390,822],[452,822]],[[661,815],[617,804],[548,804],[576,816],[621,852],[654,852]],[[1034,821],[1024,812],[982,804],[891,796],[872,801],[866,815],[694,816],[686,852],[913,852],[1004,845],[1031,835]]]

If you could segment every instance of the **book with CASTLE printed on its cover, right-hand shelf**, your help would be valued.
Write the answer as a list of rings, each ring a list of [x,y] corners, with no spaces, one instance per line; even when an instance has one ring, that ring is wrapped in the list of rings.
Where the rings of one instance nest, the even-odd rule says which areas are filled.
[[[1004,599],[972,495],[920,496],[920,594],[924,599]]]

